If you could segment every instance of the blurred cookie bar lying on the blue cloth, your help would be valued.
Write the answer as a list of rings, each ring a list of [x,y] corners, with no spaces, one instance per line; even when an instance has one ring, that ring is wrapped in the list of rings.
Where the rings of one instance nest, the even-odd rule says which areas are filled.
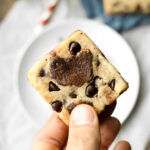
[[[150,0],[103,0],[106,14],[150,13]]]

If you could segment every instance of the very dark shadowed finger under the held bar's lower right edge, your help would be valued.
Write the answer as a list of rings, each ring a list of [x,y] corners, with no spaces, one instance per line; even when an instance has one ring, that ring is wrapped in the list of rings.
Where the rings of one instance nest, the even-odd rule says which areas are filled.
[[[114,101],[111,105],[108,105],[105,107],[105,110],[102,111],[101,114],[99,114],[100,122],[103,122],[103,120],[105,120],[106,118],[111,116],[111,114],[113,113],[113,111],[116,107],[116,104],[117,104],[117,101]]]

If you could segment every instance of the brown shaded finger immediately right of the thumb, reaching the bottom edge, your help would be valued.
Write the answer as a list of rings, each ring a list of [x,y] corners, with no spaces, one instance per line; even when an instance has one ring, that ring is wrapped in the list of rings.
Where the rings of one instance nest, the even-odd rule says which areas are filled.
[[[116,138],[120,130],[118,119],[109,117],[105,119],[100,126],[101,150],[107,150]]]

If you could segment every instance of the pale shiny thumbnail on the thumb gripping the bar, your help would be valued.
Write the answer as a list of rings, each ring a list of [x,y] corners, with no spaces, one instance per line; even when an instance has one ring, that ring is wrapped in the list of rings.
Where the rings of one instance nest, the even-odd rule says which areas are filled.
[[[86,106],[78,106],[72,112],[72,122],[74,125],[91,124],[94,121],[94,112]]]

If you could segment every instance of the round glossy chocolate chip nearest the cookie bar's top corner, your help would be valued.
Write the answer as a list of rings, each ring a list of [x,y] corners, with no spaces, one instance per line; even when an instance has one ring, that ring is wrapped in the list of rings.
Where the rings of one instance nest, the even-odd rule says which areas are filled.
[[[76,55],[81,50],[81,46],[78,42],[74,41],[70,43],[69,50],[72,55]]]

